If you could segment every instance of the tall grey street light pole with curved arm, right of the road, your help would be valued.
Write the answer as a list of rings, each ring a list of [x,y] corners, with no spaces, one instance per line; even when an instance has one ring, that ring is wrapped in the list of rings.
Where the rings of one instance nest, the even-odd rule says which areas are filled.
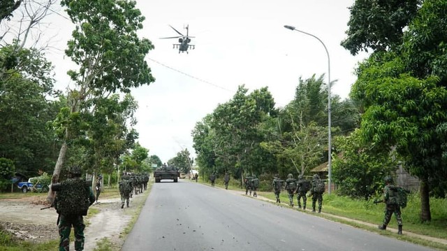
[[[330,194],[330,184],[331,184],[331,176],[332,176],[332,136],[331,136],[331,132],[330,132],[330,127],[331,127],[331,120],[330,120],[330,57],[329,57],[329,52],[328,52],[328,48],[326,48],[326,45],[323,43],[323,41],[321,41],[320,38],[309,34],[305,31],[300,31],[299,29],[295,29],[295,27],[290,26],[290,25],[284,25],[284,27],[286,29],[291,29],[292,31],[298,31],[301,32],[302,34],[306,34],[309,36],[312,36],[314,38],[316,38],[318,41],[320,41],[320,43],[323,45],[324,50],[326,51],[326,55],[328,55],[328,194]]]

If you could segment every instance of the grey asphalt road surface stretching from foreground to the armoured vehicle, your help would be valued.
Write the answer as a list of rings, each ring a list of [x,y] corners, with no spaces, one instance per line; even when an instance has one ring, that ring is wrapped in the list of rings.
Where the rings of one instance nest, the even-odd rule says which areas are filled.
[[[163,180],[152,186],[122,250],[430,249],[230,190]]]

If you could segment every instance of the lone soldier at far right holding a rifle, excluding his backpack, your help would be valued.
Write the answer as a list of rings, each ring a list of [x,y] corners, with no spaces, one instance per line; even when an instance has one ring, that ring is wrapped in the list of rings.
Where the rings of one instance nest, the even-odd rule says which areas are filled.
[[[402,216],[400,213],[400,206],[397,203],[396,199],[397,192],[393,188],[393,178],[387,176],[385,178],[385,187],[383,188],[383,199],[381,199],[380,201],[374,200],[374,203],[386,203],[385,217],[383,218],[383,224],[379,225],[379,229],[386,229],[386,226],[388,225],[388,223],[390,223],[391,215],[393,215],[394,213],[397,220],[397,227],[399,227],[399,229],[397,230],[397,234],[402,235]]]

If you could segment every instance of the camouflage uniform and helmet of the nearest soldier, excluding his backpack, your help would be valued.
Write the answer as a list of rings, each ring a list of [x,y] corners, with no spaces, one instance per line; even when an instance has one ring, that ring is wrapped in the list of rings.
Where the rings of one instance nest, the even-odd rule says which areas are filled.
[[[77,186],[85,187],[85,189],[74,189],[73,191],[81,191],[84,192],[83,194],[73,194],[73,196],[76,196],[77,199],[87,201],[89,203],[89,206],[91,206],[92,203],[95,201],[95,196],[93,194],[93,191],[90,187],[87,187],[85,184],[85,181],[80,180],[81,171],[78,166],[73,166],[70,170],[70,173],[72,178],[68,178],[66,181],[61,182],[61,188],[60,189],[69,189],[70,187],[66,187],[66,184],[76,184]],[[60,190],[59,190],[60,191]],[[61,195],[62,194],[62,195]],[[61,213],[61,208],[64,207],[64,201],[66,201],[66,197],[63,195],[66,194],[64,192],[57,192],[56,198],[54,199],[54,208],[56,208],[57,213],[59,213],[59,217],[57,218],[57,225],[59,229],[59,251],[68,251],[70,248],[70,232],[71,227],[73,226],[73,229],[75,231],[75,250],[84,250],[84,243],[85,243],[85,237],[84,237],[84,219],[82,215],[87,215],[87,210],[82,213],[73,213],[73,214],[66,214]],[[88,207],[87,207],[88,208]]]

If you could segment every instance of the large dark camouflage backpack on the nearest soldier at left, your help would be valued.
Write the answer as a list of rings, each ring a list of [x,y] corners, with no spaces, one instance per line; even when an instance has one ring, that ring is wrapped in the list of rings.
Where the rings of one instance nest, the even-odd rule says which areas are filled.
[[[87,215],[90,206],[89,192],[84,180],[68,179],[61,182],[56,193],[57,213],[61,215]]]

